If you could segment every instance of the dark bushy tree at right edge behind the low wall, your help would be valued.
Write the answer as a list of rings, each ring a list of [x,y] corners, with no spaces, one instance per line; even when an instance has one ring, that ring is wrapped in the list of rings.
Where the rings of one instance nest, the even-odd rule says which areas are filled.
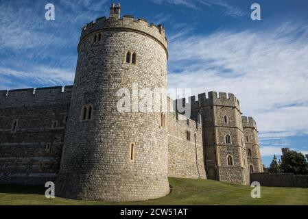
[[[295,175],[308,175],[308,163],[302,153],[287,151],[282,157],[281,170]]]

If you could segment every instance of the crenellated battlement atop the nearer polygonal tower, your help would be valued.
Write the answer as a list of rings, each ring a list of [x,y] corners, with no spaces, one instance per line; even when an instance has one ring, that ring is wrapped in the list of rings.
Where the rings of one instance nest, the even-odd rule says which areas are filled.
[[[196,100],[196,96],[189,96],[188,99],[182,98],[177,99],[176,101],[182,103],[182,106],[184,107],[186,103],[190,103],[191,110],[197,109],[198,107],[206,107],[209,105],[222,105],[227,107],[236,107],[238,110],[240,110],[239,107],[239,100],[235,97],[232,93],[226,93],[226,92],[215,92],[211,91],[206,93],[198,94],[198,101]]]

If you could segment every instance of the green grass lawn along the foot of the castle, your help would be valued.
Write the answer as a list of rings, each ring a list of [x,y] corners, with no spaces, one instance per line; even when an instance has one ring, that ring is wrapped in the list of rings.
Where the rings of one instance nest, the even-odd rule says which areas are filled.
[[[169,183],[168,196],[126,203],[45,198],[44,186],[0,185],[0,205],[308,205],[308,188],[261,187],[261,198],[251,198],[246,185],[177,178]]]

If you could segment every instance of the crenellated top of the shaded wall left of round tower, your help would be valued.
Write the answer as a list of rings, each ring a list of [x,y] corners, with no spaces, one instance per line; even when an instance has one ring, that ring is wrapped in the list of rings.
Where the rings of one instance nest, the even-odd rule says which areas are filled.
[[[0,107],[69,103],[73,86],[0,90]]]

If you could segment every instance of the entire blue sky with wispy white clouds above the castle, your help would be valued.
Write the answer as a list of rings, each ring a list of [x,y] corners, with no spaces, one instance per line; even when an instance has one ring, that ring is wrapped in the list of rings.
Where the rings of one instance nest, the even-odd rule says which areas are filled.
[[[56,20],[45,20],[53,3]],[[80,30],[112,1],[0,0],[0,90],[73,83]],[[121,14],[163,23],[168,86],[233,92],[257,120],[263,163],[308,153],[308,1],[120,1]],[[250,5],[261,5],[261,21]]]

